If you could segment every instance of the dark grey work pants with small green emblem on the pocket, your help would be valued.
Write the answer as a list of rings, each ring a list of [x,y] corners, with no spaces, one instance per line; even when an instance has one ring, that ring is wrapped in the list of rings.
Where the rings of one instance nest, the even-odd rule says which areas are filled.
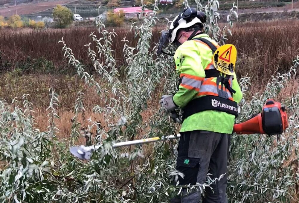
[[[227,172],[229,134],[210,131],[188,131],[181,133],[176,169],[184,174],[179,177],[179,185],[204,184],[207,174],[211,179],[219,178]],[[205,189],[205,196],[198,191],[171,200],[172,203],[227,203],[227,174]]]

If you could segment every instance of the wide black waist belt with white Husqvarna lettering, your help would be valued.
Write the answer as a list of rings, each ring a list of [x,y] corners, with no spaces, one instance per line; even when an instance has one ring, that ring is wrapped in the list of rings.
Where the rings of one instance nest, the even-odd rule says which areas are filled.
[[[191,100],[183,108],[183,120],[186,119],[188,116],[193,115],[194,113],[206,110],[217,110],[232,114],[236,117],[238,116],[237,102],[231,101],[229,99],[224,99],[218,96],[207,95]]]

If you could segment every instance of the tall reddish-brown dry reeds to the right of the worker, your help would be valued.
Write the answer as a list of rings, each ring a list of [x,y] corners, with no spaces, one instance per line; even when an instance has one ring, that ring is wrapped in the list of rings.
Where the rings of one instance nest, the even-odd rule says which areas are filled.
[[[228,42],[237,47],[237,72],[265,84],[271,75],[288,70],[298,55],[299,21],[239,23]]]

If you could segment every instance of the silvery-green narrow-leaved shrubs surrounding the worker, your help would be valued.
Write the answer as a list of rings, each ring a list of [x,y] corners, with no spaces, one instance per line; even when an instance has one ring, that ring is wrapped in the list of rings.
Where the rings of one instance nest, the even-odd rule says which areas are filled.
[[[196,0],[196,4],[207,14],[206,32],[219,44],[224,44],[226,34],[231,31],[228,26],[220,28],[217,22],[219,2],[211,0],[202,6]],[[234,8],[233,5],[227,17],[229,25],[232,25],[231,16],[237,16]],[[154,13],[157,10],[156,5]],[[163,85],[163,93],[173,93],[177,85],[173,59],[156,57],[155,49],[150,48],[157,20],[155,15],[142,16],[140,26],[132,24],[131,30],[138,39],[135,47],[128,45],[130,39],[123,39],[124,78],[120,77],[111,48],[117,33],[107,31],[100,20],[97,21],[98,33],[91,33],[91,43],[86,47],[99,75],[96,78],[102,78],[101,81],[87,73],[64,40],[60,41],[64,56],[77,70],[77,75],[105,100],[104,106],[95,105],[93,111],[105,115],[109,130],[100,129],[97,122],[89,119],[88,128],[95,126],[97,136],[91,137],[88,143],[101,144],[91,160],[78,160],[68,151],[80,136],[81,124],[77,118],[85,111],[83,92],[78,92],[74,101],[75,113],[68,142],[56,137],[59,134],[55,124],[59,119],[56,111],[59,101],[52,88],[47,109],[49,126],[45,132],[34,128],[30,95],[16,98],[10,104],[0,101],[0,202],[169,202],[170,197],[181,193],[180,187],[170,184],[173,178],[181,175],[175,170],[177,141],[123,150],[112,148],[115,142],[161,137],[178,131],[178,126],[162,110],[148,107],[157,88]],[[96,45],[96,50],[91,44]],[[298,65],[297,57],[288,73],[273,76],[264,92],[254,96],[246,94],[250,78],[239,79],[244,99],[237,121],[260,112],[266,99],[276,98],[295,76]],[[230,202],[294,200],[298,192],[298,100],[299,92],[280,101],[286,105],[290,123],[280,137],[258,134],[232,137],[227,189]],[[148,108],[154,110],[144,121],[141,113]],[[204,190],[213,181],[216,180],[187,188],[189,191]]]

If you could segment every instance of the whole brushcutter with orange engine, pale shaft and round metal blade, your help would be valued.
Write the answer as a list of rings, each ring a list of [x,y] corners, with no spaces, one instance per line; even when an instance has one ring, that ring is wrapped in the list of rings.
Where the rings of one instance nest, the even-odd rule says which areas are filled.
[[[174,113],[171,117],[174,121],[180,122],[178,116],[175,116]],[[259,113],[245,122],[241,122],[234,125],[234,132],[237,134],[268,134],[268,135],[278,135],[285,132],[288,128],[288,115],[285,111],[285,106],[279,102],[275,102],[272,99],[269,99],[265,106],[263,107],[262,113]],[[115,143],[112,145],[113,148],[129,146],[129,145],[138,145],[151,142],[158,142],[164,140],[177,139],[180,137],[180,134],[169,135],[153,138],[147,138],[142,140],[132,140],[126,142]],[[99,149],[101,145],[95,146],[74,146],[71,147],[70,152],[79,159],[90,159],[92,152]]]

